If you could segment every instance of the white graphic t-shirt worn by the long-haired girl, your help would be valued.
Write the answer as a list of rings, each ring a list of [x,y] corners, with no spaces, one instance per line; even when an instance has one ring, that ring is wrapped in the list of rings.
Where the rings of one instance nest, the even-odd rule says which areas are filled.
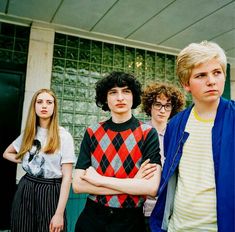
[[[74,142],[71,134],[63,127],[59,128],[61,147],[54,154],[45,154],[41,148],[46,145],[47,129],[37,127],[34,144],[22,160],[22,167],[28,174],[42,178],[61,178],[62,164],[75,163]],[[14,142],[13,146],[19,152],[23,134]]]

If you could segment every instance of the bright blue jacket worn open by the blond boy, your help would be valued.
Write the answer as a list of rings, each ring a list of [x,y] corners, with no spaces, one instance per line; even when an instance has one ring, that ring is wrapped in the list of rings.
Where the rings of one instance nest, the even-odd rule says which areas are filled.
[[[173,117],[164,137],[164,163],[158,201],[150,217],[152,232],[167,231],[173,211],[177,172],[189,133],[185,126],[192,107]],[[203,137],[202,137],[203,139]],[[235,102],[220,98],[212,128],[218,232],[235,231]]]

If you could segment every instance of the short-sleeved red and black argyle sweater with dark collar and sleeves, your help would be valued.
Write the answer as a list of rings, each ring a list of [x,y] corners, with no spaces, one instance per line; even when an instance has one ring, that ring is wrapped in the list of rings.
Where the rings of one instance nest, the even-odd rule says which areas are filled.
[[[77,169],[93,166],[104,176],[133,178],[143,161],[161,164],[157,131],[136,119],[116,124],[111,119],[87,128]],[[144,196],[89,195],[91,200],[116,208],[141,207]]]

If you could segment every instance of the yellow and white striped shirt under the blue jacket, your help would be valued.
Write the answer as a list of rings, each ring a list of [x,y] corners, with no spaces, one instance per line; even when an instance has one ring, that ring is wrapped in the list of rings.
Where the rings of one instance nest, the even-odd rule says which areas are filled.
[[[179,164],[168,232],[217,231],[213,124],[214,120],[203,120],[192,110],[185,129],[189,137]]]

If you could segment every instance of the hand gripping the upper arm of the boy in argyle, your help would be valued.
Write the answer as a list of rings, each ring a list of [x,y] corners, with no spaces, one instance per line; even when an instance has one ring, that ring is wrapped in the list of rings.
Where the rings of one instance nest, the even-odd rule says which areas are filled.
[[[147,159],[141,164],[140,169],[136,173],[134,178],[148,180],[154,175],[154,172],[156,170],[157,170],[157,164],[150,163],[150,159]]]

